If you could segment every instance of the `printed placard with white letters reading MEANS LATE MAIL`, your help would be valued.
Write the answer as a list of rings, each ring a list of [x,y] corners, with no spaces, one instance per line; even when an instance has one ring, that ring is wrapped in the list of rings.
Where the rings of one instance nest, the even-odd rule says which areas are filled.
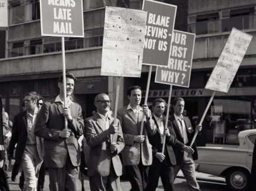
[[[82,0],[40,0],[41,33],[55,37],[84,37]]]

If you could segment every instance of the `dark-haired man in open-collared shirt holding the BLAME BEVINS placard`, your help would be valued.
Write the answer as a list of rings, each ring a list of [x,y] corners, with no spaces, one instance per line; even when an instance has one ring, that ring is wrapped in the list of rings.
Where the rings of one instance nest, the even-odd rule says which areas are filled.
[[[148,167],[152,164],[151,144],[148,134],[156,133],[156,125],[151,118],[147,105],[140,107],[141,88],[131,86],[127,90],[129,105],[119,109],[118,119],[124,134],[125,148],[122,151],[122,161],[127,171],[133,191],[146,189],[148,182]],[[146,118],[143,118],[143,114]],[[143,122],[143,134],[140,135]]]

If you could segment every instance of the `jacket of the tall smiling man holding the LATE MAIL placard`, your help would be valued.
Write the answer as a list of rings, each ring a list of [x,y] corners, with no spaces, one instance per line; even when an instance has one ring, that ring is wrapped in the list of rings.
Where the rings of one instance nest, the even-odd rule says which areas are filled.
[[[77,139],[84,132],[82,109],[77,103],[72,103],[69,109],[73,119],[72,122],[68,121],[68,128],[71,130],[68,138],[59,137],[59,132],[65,128],[61,102],[52,99],[43,103],[37,116],[34,134],[44,138],[46,167],[64,167],[67,154],[73,166],[80,165],[81,156]]]

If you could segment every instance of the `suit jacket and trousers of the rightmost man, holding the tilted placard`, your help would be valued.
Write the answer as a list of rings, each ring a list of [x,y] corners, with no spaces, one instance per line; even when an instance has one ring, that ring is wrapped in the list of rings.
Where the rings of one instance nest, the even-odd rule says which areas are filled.
[[[184,123],[185,123],[185,130],[187,132],[188,137],[188,143],[187,145],[190,145],[194,130],[192,128],[191,122],[187,116],[183,116]],[[175,119],[174,114],[171,116],[170,121],[172,122],[172,127],[175,132],[176,139],[180,141],[181,143],[184,143],[183,136],[181,135],[181,131],[179,130],[178,122]],[[197,154],[197,147],[195,143],[192,145],[192,148],[194,149],[194,153],[192,156],[189,156],[186,152],[183,150],[179,150],[177,148],[174,148],[175,156],[176,156],[176,162],[177,165],[175,166],[175,177],[178,174],[178,171],[181,169],[184,173],[184,176],[189,184],[189,189],[191,190],[200,190],[199,185],[197,183],[197,180],[195,179],[195,163],[194,160],[197,160],[198,154]]]

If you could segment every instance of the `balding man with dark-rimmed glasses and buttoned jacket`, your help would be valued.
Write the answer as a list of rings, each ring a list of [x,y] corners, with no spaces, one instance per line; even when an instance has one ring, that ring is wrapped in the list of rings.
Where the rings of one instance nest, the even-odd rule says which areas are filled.
[[[120,190],[122,163],[119,153],[124,148],[124,138],[118,119],[110,115],[110,100],[105,93],[95,97],[97,113],[85,120],[86,143],[90,146],[88,175],[90,189]],[[112,135],[112,136],[110,136]],[[112,137],[112,138],[110,138]]]

